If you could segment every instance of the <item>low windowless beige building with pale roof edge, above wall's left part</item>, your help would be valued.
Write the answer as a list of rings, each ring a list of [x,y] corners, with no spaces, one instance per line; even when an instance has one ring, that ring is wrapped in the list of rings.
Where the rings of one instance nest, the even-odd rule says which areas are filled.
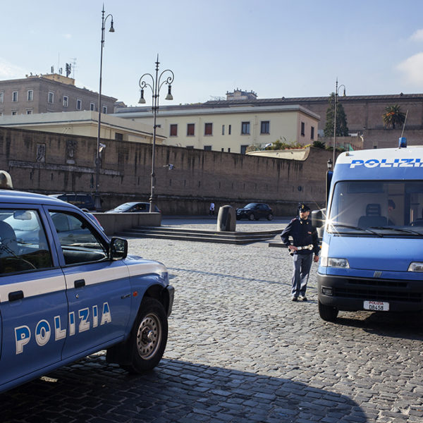
[[[0,126],[42,130],[49,133],[97,137],[99,114],[94,111],[68,111],[63,113],[42,113],[16,116],[0,116]],[[101,118],[100,137],[109,140],[152,142],[153,128],[142,122],[133,122],[116,116]],[[156,143],[165,140],[160,128]]]

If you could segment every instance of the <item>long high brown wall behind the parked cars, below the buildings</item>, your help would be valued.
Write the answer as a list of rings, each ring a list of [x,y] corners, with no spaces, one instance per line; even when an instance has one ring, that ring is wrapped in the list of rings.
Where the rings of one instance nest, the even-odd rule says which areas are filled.
[[[99,190],[103,209],[149,198],[152,145],[102,140]],[[45,194],[94,192],[97,139],[0,128],[0,168],[17,190]],[[157,204],[163,214],[207,214],[216,207],[263,201],[276,215],[295,214],[300,201],[324,204],[331,152],[312,148],[305,161],[156,146]],[[170,170],[168,164],[173,164]]]

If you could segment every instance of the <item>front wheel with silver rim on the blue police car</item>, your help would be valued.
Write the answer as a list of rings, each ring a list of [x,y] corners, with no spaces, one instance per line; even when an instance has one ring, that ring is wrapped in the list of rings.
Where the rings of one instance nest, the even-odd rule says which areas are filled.
[[[163,305],[154,298],[145,298],[130,333],[130,364],[123,368],[136,374],[154,369],[163,357],[167,337],[168,321]]]

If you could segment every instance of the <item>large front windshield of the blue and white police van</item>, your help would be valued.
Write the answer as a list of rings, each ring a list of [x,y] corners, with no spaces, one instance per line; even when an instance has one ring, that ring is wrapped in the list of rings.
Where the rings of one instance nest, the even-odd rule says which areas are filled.
[[[423,180],[349,180],[336,183],[329,232],[423,233]]]

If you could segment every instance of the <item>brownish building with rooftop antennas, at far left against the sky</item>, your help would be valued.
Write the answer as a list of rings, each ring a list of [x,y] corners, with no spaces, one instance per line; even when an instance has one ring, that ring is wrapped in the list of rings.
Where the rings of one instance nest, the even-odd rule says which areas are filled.
[[[102,113],[113,113],[115,103],[102,95]],[[0,116],[83,110],[98,111],[99,94],[76,87],[73,78],[51,73],[0,81]]]

